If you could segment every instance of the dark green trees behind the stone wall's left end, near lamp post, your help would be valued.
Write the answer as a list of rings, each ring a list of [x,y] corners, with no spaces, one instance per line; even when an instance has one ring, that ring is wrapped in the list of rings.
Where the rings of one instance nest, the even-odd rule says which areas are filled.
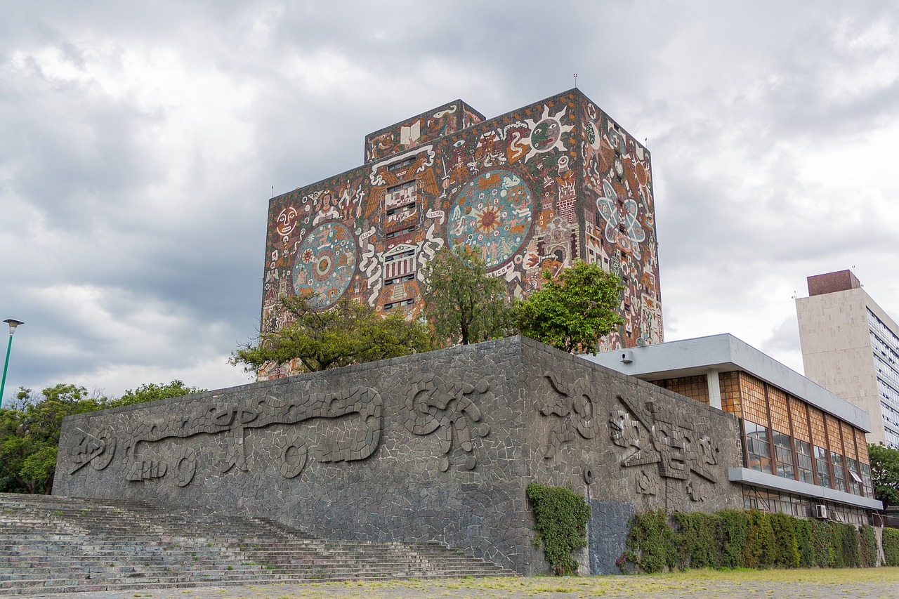
[[[168,384],[141,385],[121,398],[110,399],[67,383],[42,389],[40,394],[20,388],[11,405],[0,408],[0,492],[50,493],[56,474],[59,433],[66,416],[201,390],[173,380]]]

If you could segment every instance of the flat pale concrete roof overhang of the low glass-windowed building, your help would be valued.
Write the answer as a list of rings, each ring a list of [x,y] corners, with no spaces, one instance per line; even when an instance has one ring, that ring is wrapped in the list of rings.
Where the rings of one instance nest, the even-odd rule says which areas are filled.
[[[867,412],[729,333],[612,352],[585,353],[580,357],[641,380],[690,377],[708,371],[744,371],[865,433],[871,432],[871,418]]]

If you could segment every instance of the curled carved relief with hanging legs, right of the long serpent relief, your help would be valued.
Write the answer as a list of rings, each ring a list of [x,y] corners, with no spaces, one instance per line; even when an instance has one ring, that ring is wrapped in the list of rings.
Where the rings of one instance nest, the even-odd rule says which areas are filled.
[[[406,394],[405,428],[413,434],[437,433],[441,439],[441,471],[449,469],[453,442],[467,453],[463,466],[472,470],[477,466],[474,453],[476,437],[490,434],[490,425],[481,421],[481,410],[470,396],[484,394],[490,389],[486,380],[475,384],[448,384],[434,374],[419,374]]]

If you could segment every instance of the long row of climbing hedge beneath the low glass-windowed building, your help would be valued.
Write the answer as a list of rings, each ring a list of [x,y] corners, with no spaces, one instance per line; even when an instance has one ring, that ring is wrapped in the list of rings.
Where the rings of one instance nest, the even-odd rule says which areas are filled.
[[[899,531],[884,531],[884,551],[891,552],[887,565],[899,565]],[[622,572],[647,573],[689,568],[873,568],[877,536],[872,526],[859,531],[852,524],[759,510],[674,513],[671,518],[657,510],[634,516],[627,550],[617,563]]]

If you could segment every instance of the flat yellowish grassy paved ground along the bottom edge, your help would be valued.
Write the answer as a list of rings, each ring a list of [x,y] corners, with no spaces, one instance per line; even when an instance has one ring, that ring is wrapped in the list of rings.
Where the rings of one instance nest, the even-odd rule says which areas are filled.
[[[771,570],[765,573],[699,572],[641,577],[413,579],[18,596],[55,599],[636,599],[649,596],[653,599],[895,599],[899,597],[899,568]]]

